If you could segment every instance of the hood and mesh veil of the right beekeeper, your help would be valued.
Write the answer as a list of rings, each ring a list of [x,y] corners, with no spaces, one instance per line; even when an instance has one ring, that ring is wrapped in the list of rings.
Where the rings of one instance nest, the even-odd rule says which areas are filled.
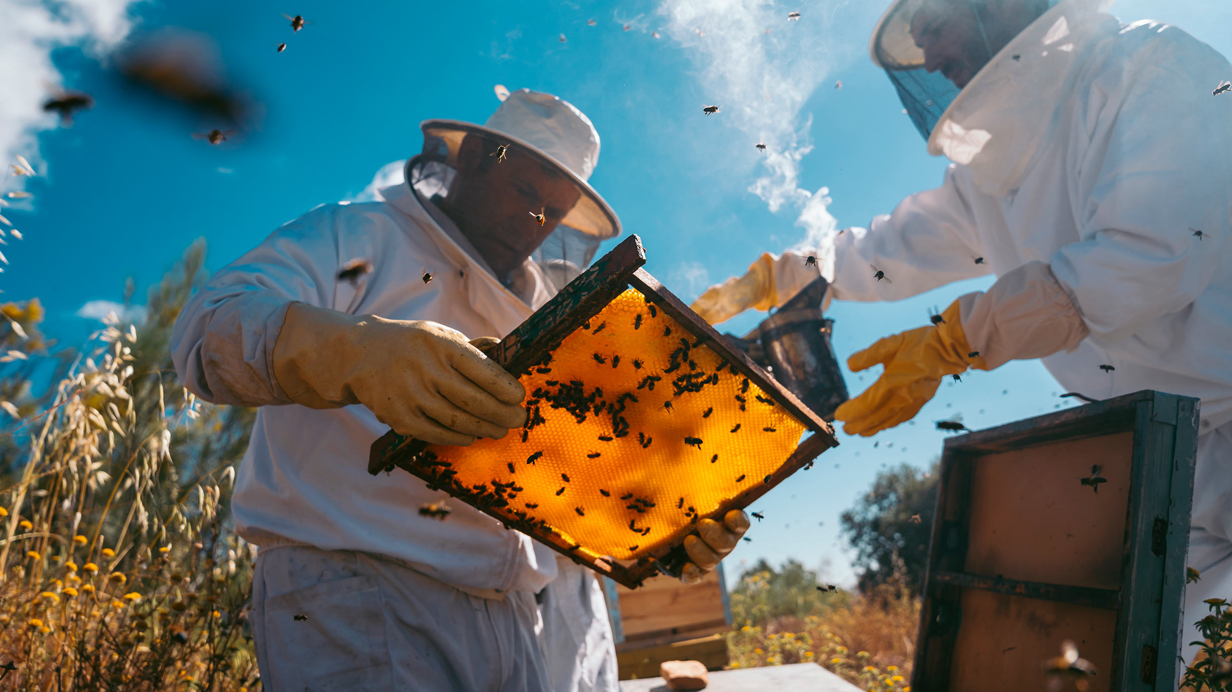
[[[1050,9],[961,90],[925,69],[924,50],[912,37],[912,18],[926,1],[939,0],[894,0],[872,32],[872,62],[890,75],[929,153],[972,166],[984,192],[1004,195],[1047,133],[1084,48],[1094,36],[1115,32],[1116,20],[1103,14],[1114,0],[1048,0]],[[968,6],[983,31],[987,0],[947,1]]]

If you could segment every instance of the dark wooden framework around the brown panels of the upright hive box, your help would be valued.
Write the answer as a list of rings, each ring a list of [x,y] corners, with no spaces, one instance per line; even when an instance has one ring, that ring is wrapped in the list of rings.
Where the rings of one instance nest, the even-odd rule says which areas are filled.
[[[941,457],[936,515],[924,580],[912,688],[950,688],[963,590],[984,590],[1116,611],[1115,692],[1173,692],[1183,623],[1185,553],[1198,445],[1196,399],[1143,390],[1000,427],[951,437]],[[970,533],[971,480],[981,457],[997,452],[1132,431],[1130,497],[1120,589],[1015,581],[962,570]],[[1042,682],[1042,681],[1032,681]],[[999,681],[1003,690],[1008,681]],[[1024,690],[1039,685],[1024,681]]]

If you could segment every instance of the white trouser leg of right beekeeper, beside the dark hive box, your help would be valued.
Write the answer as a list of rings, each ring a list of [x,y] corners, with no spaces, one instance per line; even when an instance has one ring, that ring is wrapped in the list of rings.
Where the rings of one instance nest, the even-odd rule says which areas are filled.
[[[1199,650],[1190,642],[1201,639],[1194,623],[1210,613],[1202,601],[1232,601],[1232,424],[1198,438],[1186,564],[1201,574],[1185,587],[1180,655],[1189,662]]]

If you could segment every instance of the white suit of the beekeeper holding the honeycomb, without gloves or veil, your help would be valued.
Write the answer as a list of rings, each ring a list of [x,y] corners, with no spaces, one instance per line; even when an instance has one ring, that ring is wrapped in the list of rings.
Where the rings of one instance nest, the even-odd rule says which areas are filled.
[[[580,117],[594,133],[568,103],[526,90],[489,126],[521,132],[508,122],[517,112],[557,132]],[[583,179],[598,153],[596,133],[584,155],[552,151]],[[296,692],[616,690],[591,573],[462,502],[450,502],[447,521],[420,516],[446,495],[403,472],[367,473],[368,448],[389,427],[363,405],[286,405],[271,361],[291,302],[501,336],[557,291],[530,260],[506,288],[428,197],[391,182],[373,201],[324,204],[277,229],[211,277],[172,337],[190,390],[260,406],[232,505],[240,536],[260,547],[262,682]],[[371,271],[339,278],[354,260]],[[552,605],[542,614],[536,593]]]

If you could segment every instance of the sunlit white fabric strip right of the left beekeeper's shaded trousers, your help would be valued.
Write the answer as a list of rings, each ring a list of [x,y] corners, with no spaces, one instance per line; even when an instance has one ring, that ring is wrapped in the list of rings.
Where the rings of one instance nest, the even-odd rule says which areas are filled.
[[[540,595],[552,692],[618,692],[616,644],[595,573],[558,559]]]

